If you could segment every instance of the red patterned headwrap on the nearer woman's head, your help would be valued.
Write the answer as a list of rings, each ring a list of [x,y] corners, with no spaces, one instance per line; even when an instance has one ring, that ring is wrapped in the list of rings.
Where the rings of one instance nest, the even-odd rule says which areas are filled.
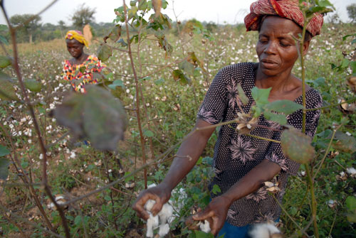
[[[250,6],[251,12],[245,17],[246,30],[258,31],[261,27],[261,17],[265,15],[288,18],[303,27],[303,13],[300,11],[298,3],[298,0],[258,0],[253,2]],[[321,26],[323,26],[323,16],[320,13],[315,13],[306,29],[312,36],[316,36],[320,34]]]

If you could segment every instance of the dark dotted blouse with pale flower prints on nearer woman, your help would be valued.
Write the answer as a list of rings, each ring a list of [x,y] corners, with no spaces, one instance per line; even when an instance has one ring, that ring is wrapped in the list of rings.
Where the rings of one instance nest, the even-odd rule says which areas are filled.
[[[236,100],[238,93],[237,85],[240,84],[246,96],[248,104],[241,108],[244,113],[248,113],[254,104],[251,96],[251,89],[255,87],[255,76],[253,65],[255,63],[239,63],[229,65],[221,69],[214,78],[204,102],[199,108],[197,117],[203,119],[209,124],[217,124],[220,121],[231,121],[236,118],[237,112],[241,112]],[[302,104],[302,97],[295,99],[296,103]],[[318,108],[323,104],[320,94],[310,88],[306,92],[306,107]],[[306,134],[313,137],[318,125],[320,110],[308,111],[306,114]],[[287,116],[288,124],[296,129],[302,129],[302,110],[298,110]],[[273,121],[268,121],[261,115],[258,119],[258,125],[251,130],[250,134],[261,136],[268,139],[280,141],[281,126]],[[219,185],[221,193],[225,193],[239,179],[244,177],[248,171],[257,166],[263,159],[268,159],[281,166],[281,172],[273,178],[279,182],[281,191],[276,193],[279,202],[282,201],[286,190],[289,175],[295,175],[298,171],[299,164],[283,156],[281,144],[255,139],[251,136],[238,134],[236,124],[221,126],[219,137],[214,148],[214,171],[215,177],[209,185],[209,189]],[[266,129],[266,126],[277,130]],[[211,193],[211,198],[214,195]],[[251,193],[244,198],[236,200],[227,215],[227,222],[237,227],[243,227],[248,224],[263,222],[266,220],[276,220],[281,213],[281,207],[276,200],[268,195],[266,188],[260,188],[255,193]]]

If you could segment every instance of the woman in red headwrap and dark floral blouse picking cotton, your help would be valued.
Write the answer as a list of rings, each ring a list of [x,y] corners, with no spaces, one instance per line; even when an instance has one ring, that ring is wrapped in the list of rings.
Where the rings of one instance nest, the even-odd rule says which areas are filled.
[[[251,96],[253,87],[271,88],[269,102],[287,99],[303,104],[302,81],[292,74],[300,50],[295,38],[299,38],[303,27],[298,0],[256,1],[251,4],[245,24],[247,31],[258,31],[256,53],[259,62],[229,65],[218,72],[201,104],[194,129],[231,121],[238,114],[248,114],[256,104]],[[306,26],[308,36],[303,43],[303,53],[308,51],[310,39],[320,33],[322,25],[323,16],[315,14]],[[245,105],[239,99],[238,85],[248,97]],[[308,85],[305,87],[306,107],[320,107],[323,101],[320,94]],[[298,110],[288,115],[288,124],[301,130],[302,114]],[[308,136],[314,136],[319,116],[320,110],[307,112],[305,133]],[[221,126],[216,141],[213,163],[216,175],[209,188],[219,185],[221,193],[211,193],[212,200],[206,209],[193,216],[194,220],[208,220],[211,232],[219,236],[225,234],[225,238],[247,237],[251,225],[278,220],[281,207],[268,194],[263,182],[278,182],[281,191],[275,196],[282,202],[288,177],[295,175],[299,168],[298,163],[283,155],[281,144],[239,134],[236,126]],[[137,198],[133,209],[139,217],[146,220],[149,217],[144,207],[147,200],[156,201],[151,210],[153,215],[161,210],[172,189],[194,167],[213,132],[214,129],[195,131],[182,143],[162,183],[142,191]],[[250,134],[280,141],[281,126],[262,115]]]

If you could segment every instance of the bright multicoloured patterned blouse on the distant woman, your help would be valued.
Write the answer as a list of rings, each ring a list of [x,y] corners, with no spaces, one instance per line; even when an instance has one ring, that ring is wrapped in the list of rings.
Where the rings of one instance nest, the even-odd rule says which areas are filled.
[[[106,65],[95,55],[89,55],[80,65],[72,65],[69,60],[64,60],[62,78],[70,81],[76,92],[85,92],[85,85],[98,83],[98,80],[93,80],[93,72],[101,72],[104,67]]]

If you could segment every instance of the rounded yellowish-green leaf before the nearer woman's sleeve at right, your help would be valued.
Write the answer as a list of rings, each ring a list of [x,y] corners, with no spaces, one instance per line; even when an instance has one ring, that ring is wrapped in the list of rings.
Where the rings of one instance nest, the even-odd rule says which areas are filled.
[[[311,138],[293,127],[283,131],[281,147],[284,156],[298,163],[308,163],[315,155],[314,147],[311,146]]]

